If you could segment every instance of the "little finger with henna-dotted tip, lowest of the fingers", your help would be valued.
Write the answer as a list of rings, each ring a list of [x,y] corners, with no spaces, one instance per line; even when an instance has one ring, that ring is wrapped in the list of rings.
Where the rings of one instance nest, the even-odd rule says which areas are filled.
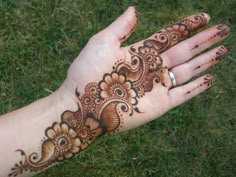
[[[173,88],[169,91],[169,99],[171,107],[176,107],[198,94],[210,88],[215,82],[213,75],[207,74],[186,85]]]

